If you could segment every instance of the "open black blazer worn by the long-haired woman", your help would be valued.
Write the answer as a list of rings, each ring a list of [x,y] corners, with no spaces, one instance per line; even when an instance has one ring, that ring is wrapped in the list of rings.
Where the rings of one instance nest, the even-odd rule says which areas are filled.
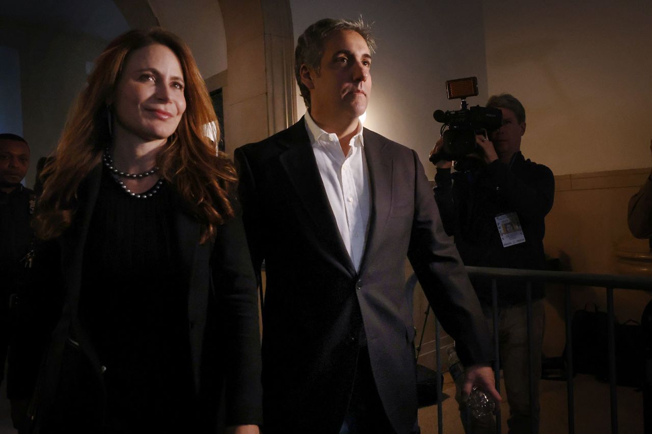
[[[102,167],[98,166],[80,186],[74,224],[57,243],[50,244],[51,253],[44,252],[36,259],[37,270],[43,267],[42,274],[48,274],[48,293],[59,291],[63,297],[63,310],[52,333],[34,398],[36,425],[44,427],[42,432],[52,432],[47,428],[63,423],[67,429],[78,426],[81,432],[92,433],[104,411],[101,361],[78,319],[82,256],[101,173]],[[216,432],[220,396],[226,391],[226,424],[259,424],[258,294],[241,218],[218,227],[215,239],[202,245],[200,223],[185,210],[179,198],[175,227],[188,282],[188,340],[200,407],[200,420],[195,422],[201,426],[201,433]],[[60,257],[59,261],[53,260],[55,255]],[[45,310],[55,303],[42,306],[38,295],[32,298],[32,307],[42,311],[38,316],[53,317]],[[48,324],[42,324],[43,328],[48,328]],[[29,339],[23,336],[22,341]],[[20,360],[21,354],[16,357]],[[25,349],[22,358],[35,357]],[[30,384],[29,371],[16,375],[23,375],[14,380],[16,383]],[[57,411],[51,411],[53,408]],[[61,414],[61,409],[69,413]]]

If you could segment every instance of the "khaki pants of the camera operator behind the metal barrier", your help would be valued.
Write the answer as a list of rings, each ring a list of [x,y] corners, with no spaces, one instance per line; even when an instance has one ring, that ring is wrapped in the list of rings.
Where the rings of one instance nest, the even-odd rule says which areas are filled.
[[[482,308],[489,330],[494,330],[492,308]],[[543,300],[532,302],[532,334],[534,343],[533,375],[534,375],[534,413],[529,407],[529,364],[527,358],[527,306],[511,306],[498,308],[498,341],[501,369],[505,381],[505,393],[509,403],[509,419],[507,426],[509,434],[530,433],[530,418],[535,420],[535,431],[539,433],[539,381],[541,379],[541,345],[545,314]],[[491,336],[493,342],[493,335]],[[461,401],[460,384],[457,384],[456,399]],[[460,403],[460,417],[467,434],[489,434],[496,432],[496,421],[489,416],[482,420],[473,418],[466,411],[466,406]]]

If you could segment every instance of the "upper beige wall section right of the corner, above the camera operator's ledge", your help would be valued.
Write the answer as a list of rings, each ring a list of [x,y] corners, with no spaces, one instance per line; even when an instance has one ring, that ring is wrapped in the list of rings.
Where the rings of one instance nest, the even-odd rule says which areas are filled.
[[[556,175],[649,166],[652,2],[483,4],[489,91],[523,102],[528,158]]]

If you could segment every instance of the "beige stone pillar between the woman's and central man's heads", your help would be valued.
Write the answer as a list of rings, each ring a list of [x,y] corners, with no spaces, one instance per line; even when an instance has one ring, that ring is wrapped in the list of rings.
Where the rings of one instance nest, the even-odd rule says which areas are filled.
[[[229,68],[224,87],[226,152],[292,123],[287,0],[220,0]],[[289,57],[288,57],[289,56]],[[289,96],[288,96],[289,93]]]

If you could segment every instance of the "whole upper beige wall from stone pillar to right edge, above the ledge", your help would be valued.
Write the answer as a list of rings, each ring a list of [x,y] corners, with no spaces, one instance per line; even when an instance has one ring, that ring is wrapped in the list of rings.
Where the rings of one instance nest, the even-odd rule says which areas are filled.
[[[471,1],[402,3],[291,2],[296,38],[327,16],[362,14],[379,49],[366,126],[426,156],[439,126],[437,108],[451,78],[479,77],[488,94],[510,92],[527,111],[523,151],[557,175],[648,166],[652,127],[652,3]],[[297,100],[303,114],[301,98]]]

